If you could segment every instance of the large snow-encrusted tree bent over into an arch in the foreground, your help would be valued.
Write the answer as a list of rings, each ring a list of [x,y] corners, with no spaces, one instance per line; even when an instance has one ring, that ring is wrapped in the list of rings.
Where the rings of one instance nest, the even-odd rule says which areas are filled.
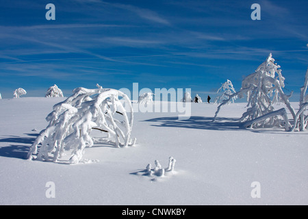
[[[122,99],[119,99],[122,98]],[[133,108],[129,97],[114,89],[75,88],[73,95],[53,106],[47,116],[49,125],[40,132],[27,155],[28,159],[53,162],[72,150],[69,162],[81,161],[86,146],[94,144],[93,129],[101,131],[97,142],[115,146],[131,146]],[[40,148],[39,148],[40,146]]]

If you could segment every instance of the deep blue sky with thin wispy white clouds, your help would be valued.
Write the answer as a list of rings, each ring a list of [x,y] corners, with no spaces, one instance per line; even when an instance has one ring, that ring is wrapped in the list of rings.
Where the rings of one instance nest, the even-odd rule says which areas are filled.
[[[47,21],[47,3],[55,21]],[[251,19],[251,5],[261,20]],[[66,96],[95,88],[191,88],[205,98],[269,53],[298,93],[308,66],[308,1],[0,0],[0,93]],[[294,97],[296,97],[295,94]],[[295,99],[296,101],[296,99]]]

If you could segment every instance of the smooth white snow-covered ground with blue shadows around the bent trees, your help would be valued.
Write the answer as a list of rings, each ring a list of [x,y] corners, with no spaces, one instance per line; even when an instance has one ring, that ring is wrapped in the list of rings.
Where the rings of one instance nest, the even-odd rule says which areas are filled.
[[[1,205],[308,204],[308,131],[240,129],[245,103],[222,107],[216,123],[217,105],[208,103],[191,103],[189,120],[136,112],[136,146],[95,144],[80,164],[25,159],[52,106],[63,100],[0,100]],[[170,156],[177,160],[173,172],[144,175],[155,159],[167,167]],[[55,198],[46,196],[50,181]],[[251,196],[254,181],[261,198]]]

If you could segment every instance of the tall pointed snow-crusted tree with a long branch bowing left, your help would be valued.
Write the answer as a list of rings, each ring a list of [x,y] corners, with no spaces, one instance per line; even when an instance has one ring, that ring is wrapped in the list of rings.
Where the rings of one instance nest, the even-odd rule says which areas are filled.
[[[248,109],[242,115],[242,122],[254,121],[261,116],[272,113],[274,111],[274,107],[272,106],[272,99],[270,99],[270,96],[273,92],[277,92],[277,90],[278,92],[282,92],[281,88],[284,87],[285,78],[281,75],[281,69],[279,68],[280,66],[274,63],[274,59],[270,53],[266,61],[263,62],[257,70],[255,70],[255,73],[244,78],[242,81],[241,90],[229,95],[228,99],[222,101],[222,103],[218,106],[215,118],[222,105],[229,103],[234,96],[242,98],[244,94],[247,96]],[[283,92],[281,94],[283,94]],[[284,94],[283,96],[287,99]],[[291,105],[289,106],[292,107]],[[278,118],[280,114],[281,112],[279,112],[279,114],[271,114],[269,118],[258,120],[250,125],[253,128],[280,126],[281,123]],[[286,118],[286,114],[284,114],[283,117]]]

